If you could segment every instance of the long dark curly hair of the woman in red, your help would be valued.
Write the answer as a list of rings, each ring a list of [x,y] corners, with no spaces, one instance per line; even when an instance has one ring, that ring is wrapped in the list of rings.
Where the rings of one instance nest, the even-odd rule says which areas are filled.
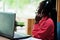
[[[50,17],[54,23],[57,22],[57,12],[56,12],[56,8],[54,7],[55,4],[53,4],[52,1],[42,1],[39,4],[38,10],[37,10],[37,14],[44,14],[43,16],[48,16]],[[40,21],[41,18],[39,17],[35,17],[35,20],[38,20],[38,22]]]

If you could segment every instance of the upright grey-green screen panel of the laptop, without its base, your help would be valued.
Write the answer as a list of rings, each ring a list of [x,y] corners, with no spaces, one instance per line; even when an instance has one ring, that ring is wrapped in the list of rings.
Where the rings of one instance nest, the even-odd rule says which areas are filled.
[[[0,35],[13,38],[15,13],[0,12]]]

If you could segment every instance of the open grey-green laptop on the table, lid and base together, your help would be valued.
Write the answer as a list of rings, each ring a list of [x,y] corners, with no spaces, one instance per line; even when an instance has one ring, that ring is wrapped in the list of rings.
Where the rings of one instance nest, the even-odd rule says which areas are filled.
[[[0,12],[0,36],[7,37],[9,39],[23,39],[31,37],[26,34],[19,34],[14,31],[15,27],[15,13]]]

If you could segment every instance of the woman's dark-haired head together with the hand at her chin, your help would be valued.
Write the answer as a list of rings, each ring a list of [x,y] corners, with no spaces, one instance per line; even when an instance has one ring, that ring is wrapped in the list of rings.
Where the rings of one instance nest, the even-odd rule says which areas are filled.
[[[36,21],[40,21],[42,17],[48,16],[50,18],[52,18],[53,20],[56,19],[55,16],[56,13],[55,11],[52,11],[54,7],[54,4],[52,4],[53,2],[51,1],[42,1],[39,4],[38,10],[37,10],[37,15],[35,17]]]

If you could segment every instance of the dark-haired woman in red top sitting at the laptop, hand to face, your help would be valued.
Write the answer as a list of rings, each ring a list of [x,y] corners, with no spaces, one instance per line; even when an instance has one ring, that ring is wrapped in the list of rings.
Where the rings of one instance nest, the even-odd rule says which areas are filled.
[[[32,30],[32,36],[42,40],[54,40],[54,19],[52,19],[53,5],[51,2],[41,2],[35,18],[36,23]],[[39,18],[39,20],[37,19]]]

